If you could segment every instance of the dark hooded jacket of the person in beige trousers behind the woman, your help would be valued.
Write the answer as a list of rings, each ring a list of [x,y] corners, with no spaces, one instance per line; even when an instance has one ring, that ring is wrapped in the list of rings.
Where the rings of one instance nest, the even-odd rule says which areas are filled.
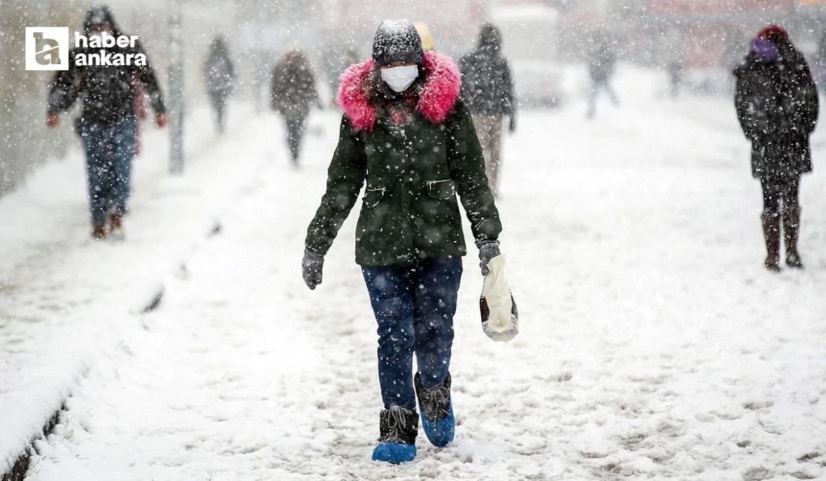
[[[501,37],[488,26],[479,34],[476,50],[459,60],[462,100],[474,114],[514,116],[516,101],[510,65],[500,54]]]

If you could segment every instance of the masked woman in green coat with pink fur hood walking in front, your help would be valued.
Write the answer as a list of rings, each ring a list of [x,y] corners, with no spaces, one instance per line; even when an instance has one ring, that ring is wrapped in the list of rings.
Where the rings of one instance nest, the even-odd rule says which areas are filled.
[[[373,460],[415,458],[416,398],[430,442],[453,441],[449,365],[466,253],[457,193],[483,275],[499,255],[499,214],[460,84],[453,61],[425,53],[410,21],[384,21],[373,58],[348,68],[339,87],[339,145],[307,229],[302,271],[310,289],[321,283],[325,253],[366,180],[356,262],[378,323],[384,403]]]

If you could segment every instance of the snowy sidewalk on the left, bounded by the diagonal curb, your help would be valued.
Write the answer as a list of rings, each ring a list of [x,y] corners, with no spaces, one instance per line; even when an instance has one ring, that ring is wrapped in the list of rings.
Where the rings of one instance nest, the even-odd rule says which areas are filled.
[[[275,161],[239,155],[239,145],[272,143],[272,134],[250,130],[242,120],[250,108],[234,107],[220,139],[210,112],[192,111],[183,177],[167,174],[166,131],[145,132],[125,243],[88,239],[77,151],[0,200],[0,473],[95,369],[94,353],[117,342],[124,324],[134,322],[130,314],[150,303],[164,277]]]

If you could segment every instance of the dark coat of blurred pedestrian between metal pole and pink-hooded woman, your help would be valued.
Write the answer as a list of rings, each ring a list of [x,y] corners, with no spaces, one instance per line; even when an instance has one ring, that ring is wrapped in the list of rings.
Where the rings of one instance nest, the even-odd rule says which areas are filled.
[[[318,102],[316,78],[301,52],[290,52],[273,68],[270,106],[282,116],[306,117]]]

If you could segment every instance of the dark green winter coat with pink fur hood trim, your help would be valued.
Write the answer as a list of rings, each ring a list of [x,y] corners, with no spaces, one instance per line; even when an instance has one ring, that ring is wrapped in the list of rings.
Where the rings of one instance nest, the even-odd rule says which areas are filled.
[[[356,227],[356,262],[362,266],[463,256],[467,248],[457,193],[474,238],[498,238],[501,223],[482,148],[470,111],[458,100],[458,68],[449,58],[427,52],[424,70],[415,112],[402,125],[370,101],[373,60],[342,75],[339,145],[327,190],[307,229],[307,249],[327,252],[365,180]]]

